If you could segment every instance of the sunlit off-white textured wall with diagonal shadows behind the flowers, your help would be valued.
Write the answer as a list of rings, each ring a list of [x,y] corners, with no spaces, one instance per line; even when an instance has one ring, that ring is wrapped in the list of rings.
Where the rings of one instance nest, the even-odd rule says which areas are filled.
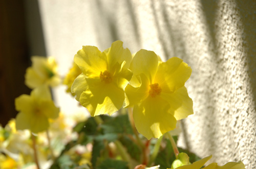
[[[62,75],[82,45],[103,50],[118,39],[132,52],[183,59],[193,69],[186,87],[195,115],[183,121],[180,146],[256,168],[255,1],[39,0],[39,8]],[[57,101],[71,111],[76,103],[63,90]]]

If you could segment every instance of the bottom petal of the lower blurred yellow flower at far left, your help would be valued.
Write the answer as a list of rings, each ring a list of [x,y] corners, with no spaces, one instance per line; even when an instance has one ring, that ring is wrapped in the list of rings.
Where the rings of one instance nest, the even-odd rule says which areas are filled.
[[[31,131],[38,133],[49,128],[48,118],[44,114],[35,114],[30,119]]]

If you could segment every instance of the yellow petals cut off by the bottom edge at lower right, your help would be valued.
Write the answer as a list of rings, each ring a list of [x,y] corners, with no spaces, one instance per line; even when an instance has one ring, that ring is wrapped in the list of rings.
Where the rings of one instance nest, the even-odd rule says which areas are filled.
[[[211,158],[211,155],[208,157],[205,157],[199,161],[196,161],[193,164],[182,165],[182,166],[177,167],[176,169],[200,169],[210,158]],[[242,161],[241,162],[228,162],[223,166],[219,166],[219,165],[217,165],[216,162],[214,162],[214,163],[211,163],[211,164],[207,165],[206,167],[204,167],[204,169],[245,169],[245,166]]]

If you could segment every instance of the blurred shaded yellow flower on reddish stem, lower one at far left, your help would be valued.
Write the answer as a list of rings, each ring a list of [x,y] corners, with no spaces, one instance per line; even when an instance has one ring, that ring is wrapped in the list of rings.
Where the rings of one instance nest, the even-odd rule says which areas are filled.
[[[30,95],[21,95],[15,99],[16,129],[30,129],[37,133],[49,127],[49,118],[58,117],[59,108],[54,105],[48,87],[35,88]]]

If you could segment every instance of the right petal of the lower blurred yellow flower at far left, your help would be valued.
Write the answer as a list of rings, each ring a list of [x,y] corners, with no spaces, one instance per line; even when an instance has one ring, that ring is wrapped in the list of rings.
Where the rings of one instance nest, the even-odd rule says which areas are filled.
[[[38,108],[47,118],[56,119],[59,116],[59,108],[54,105],[53,101],[42,101]]]

